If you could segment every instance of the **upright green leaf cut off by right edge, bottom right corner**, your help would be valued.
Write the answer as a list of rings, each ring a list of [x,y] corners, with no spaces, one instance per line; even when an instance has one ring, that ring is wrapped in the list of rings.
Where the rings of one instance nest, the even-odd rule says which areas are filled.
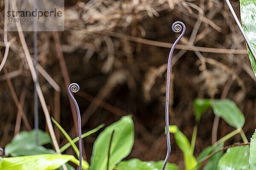
[[[248,170],[256,170],[256,130],[250,141],[250,159]]]

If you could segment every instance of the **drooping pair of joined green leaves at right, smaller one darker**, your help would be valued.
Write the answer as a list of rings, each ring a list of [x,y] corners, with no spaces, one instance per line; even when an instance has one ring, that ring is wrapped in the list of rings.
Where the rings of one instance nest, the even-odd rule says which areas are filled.
[[[244,126],[245,118],[243,113],[241,113],[236,104],[229,99],[196,99],[194,109],[197,121],[201,119],[201,115],[207,111],[209,106],[212,107],[213,113],[216,116],[220,116],[230,126],[235,128]]]

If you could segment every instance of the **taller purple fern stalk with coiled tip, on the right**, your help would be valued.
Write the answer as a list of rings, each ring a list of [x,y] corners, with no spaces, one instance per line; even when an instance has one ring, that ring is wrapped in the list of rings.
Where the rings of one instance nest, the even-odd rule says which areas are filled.
[[[172,24],[172,31],[175,33],[181,32],[180,36],[177,38],[177,40],[173,43],[171,51],[169,53],[169,58],[168,58],[168,64],[167,64],[167,78],[166,78],[166,129],[169,129],[169,93],[170,93],[170,74],[171,74],[171,62],[172,62],[172,54],[174,51],[175,46],[177,43],[180,41],[180,39],[183,37],[186,31],[186,26],[180,22],[177,21]],[[171,141],[170,141],[170,132],[169,130],[166,130],[166,140],[167,140],[167,154],[166,158],[163,162],[163,167],[162,170],[165,169],[166,164],[169,160],[169,157],[171,155]]]

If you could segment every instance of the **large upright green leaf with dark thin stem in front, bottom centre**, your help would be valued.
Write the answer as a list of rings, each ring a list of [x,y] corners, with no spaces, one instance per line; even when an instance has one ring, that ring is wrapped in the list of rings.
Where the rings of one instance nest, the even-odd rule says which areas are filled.
[[[107,170],[108,150],[111,133],[109,170],[118,164],[131,152],[134,143],[134,123],[131,116],[123,116],[119,121],[105,128],[93,144],[90,170]]]

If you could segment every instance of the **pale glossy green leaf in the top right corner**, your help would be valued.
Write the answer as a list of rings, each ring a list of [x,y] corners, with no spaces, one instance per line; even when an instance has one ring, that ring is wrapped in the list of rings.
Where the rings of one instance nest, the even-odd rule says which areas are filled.
[[[240,10],[244,32],[256,53],[256,0],[240,0]],[[256,61],[248,47],[247,50],[256,76]]]

